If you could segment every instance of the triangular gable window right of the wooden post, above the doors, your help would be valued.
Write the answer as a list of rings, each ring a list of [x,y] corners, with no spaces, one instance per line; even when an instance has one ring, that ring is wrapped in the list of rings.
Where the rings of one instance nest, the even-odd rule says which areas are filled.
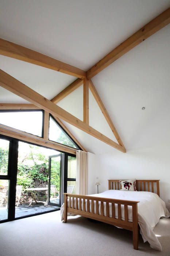
[[[49,140],[58,142],[65,146],[79,149],[76,143],[73,142],[70,136],[63,130],[63,128],[57,123],[55,118],[51,115],[49,122]]]

